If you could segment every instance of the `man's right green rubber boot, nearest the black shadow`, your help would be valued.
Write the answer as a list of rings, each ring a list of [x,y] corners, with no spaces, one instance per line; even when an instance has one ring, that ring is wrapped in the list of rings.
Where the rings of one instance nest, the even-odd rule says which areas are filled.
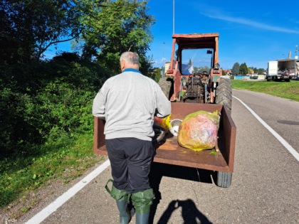
[[[148,224],[150,206],[154,199],[152,188],[137,193],[132,193],[132,203],[135,206],[136,224]]]

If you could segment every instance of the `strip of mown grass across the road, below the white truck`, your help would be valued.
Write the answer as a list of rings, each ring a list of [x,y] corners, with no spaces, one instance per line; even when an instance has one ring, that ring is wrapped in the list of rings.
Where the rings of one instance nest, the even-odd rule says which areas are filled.
[[[299,102],[299,81],[267,82],[266,80],[231,80],[231,85],[236,90],[250,90],[263,92],[276,97]]]

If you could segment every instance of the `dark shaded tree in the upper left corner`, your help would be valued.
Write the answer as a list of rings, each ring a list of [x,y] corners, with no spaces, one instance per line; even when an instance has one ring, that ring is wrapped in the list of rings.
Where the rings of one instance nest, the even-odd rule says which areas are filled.
[[[78,37],[74,1],[0,1],[0,63],[38,60],[57,43]]]

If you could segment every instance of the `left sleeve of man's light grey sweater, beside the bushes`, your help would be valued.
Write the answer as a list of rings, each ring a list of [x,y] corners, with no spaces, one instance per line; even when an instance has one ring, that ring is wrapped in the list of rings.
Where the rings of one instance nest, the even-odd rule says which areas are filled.
[[[104,83],[98,94],[93,99],[93,116],[105,119],[105,101],[107,97],[107,85]]]

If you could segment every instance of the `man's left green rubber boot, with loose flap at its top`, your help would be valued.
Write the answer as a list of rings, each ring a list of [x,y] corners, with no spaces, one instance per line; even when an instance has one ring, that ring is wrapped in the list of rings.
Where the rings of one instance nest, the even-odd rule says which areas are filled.
[[[108,181],[109,183],[110,181]],[[115,188],[115,186],[112,186],[111,191],[105,186],[106,190],[112,198],[115,199],[117,209],[120,212],[120,224],[128,224],[132,218],[132,215],[129,211],[128,206],[128,200],[129,200],[129,194],[126,191],[121,191]]]

